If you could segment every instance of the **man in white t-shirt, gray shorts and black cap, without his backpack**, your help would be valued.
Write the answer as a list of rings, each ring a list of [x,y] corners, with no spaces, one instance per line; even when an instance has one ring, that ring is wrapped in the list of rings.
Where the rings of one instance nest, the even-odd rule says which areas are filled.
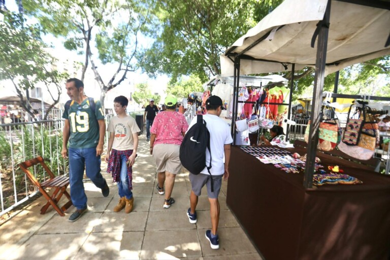
[[[229,126],[225,121],[219,118],[224,109],[222,100],[219,96],[212,95],[206,100],[207,114],[203,115],[203,119],[206,121],[207,129],[210,132],[210,150],[212,154],[210,173],[213,178],[214,191],[211,191],[211,176],[207,168],[203,169],[198,175],[189,173],[192,190],[190,195],[190,208],[187,210],[187,216],[190,223],[197,222],[196,207],[198,204],[198,197],[201,195],[202,187],[206,185],[207,196],[209,197],[210,202],[212,226],[211,230],[206,231],[206,238],[209,240],[212,249],[219,248],[217,235],[219,221],[218,194],[222,184],[222,176],[225,180],[229,178],[230,146],[233,143]],[[189,128],[196,122],[197,118],[194,117]],[[206,165],[210,165],[210,153],[208,150],[206,150]]]

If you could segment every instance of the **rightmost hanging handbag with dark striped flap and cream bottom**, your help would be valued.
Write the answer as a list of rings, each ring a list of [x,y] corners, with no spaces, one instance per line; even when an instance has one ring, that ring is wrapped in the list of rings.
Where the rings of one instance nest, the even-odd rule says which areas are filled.
[[[351,108],[352,106],[349,108],[349,112],[351,111]],[[362,111],[359,119],[350,120],[349,112],[348,112],[347,126],[343,133],[342,141],[339,143],[337,147],[339,148],[340,151],[348,154],[351,157],[360,160],[368,160],[375,153],[377,134],[379,131],[378,124],[375,121],[373,121],[374,119],[370,115],[367,115],[367,112],[370,113],[371,109],[367,107],[365,104],[362,104]],[[360,121],[361,123],[359,123]],[[348,124],[350,125],[348,126]],[[348,138],[348,135],[345,134],[346,131],[349,131],[349,133],[355,133],[356,129],[358,128],[360,128],[360,130],[358,133],[356,133],[355,136],[349,136],[350,138]],[[356,140],[354,140],[355,137]]]

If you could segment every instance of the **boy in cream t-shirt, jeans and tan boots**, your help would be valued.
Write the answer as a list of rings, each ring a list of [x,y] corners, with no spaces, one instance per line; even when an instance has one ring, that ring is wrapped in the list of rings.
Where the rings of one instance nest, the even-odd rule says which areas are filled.
[[[133,165],[137,156],[138,132],[136,120],[126,114],[128,100],[120,95],[114,99],[114,111],[117,116],[111,118],[107,132],[110,132],[106,155],[107,172],[118,183],[119,203],[114,212],[124,208],[125,213],[133,210]]]

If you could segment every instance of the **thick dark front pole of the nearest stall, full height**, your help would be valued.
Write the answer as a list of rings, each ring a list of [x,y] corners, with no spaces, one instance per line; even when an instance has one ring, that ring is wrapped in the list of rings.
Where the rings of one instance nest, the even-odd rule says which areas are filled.
[[[313,101],[310,115],[309,143],[307,146],[306,168],[303,180],[305,188],[313,187],[313,174],[315,167],[315,156],[318,144],[318,126],[321,118],[322,90],[325,78],[325,67],[327,61],[327,45],[329,34],[329,20],[331,14],[331,1],[328,0],[327,10],[323,20],[319,21],[319,34],[317,40],[317,57],[315,62]]]

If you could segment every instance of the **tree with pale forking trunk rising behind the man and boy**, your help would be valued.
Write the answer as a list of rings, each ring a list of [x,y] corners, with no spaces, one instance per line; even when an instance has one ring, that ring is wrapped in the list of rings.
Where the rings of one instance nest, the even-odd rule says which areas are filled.
[[[40,21],[45,31],[66,38],[67,49],[85,55],[81,80],[90,63],[104,106],[105,93],[119,85],[127,72],[137,69],[134,60],[139,44],[137,37],[140,31],[149,30],[144,26],[149,19],[145,4],[139,0],[37,0],[36,4],[26,1],[27,12]],[[107,82],[100,75],[104,66],[98,71],[94,64],[98,58],[103,64],[118,64]]]

